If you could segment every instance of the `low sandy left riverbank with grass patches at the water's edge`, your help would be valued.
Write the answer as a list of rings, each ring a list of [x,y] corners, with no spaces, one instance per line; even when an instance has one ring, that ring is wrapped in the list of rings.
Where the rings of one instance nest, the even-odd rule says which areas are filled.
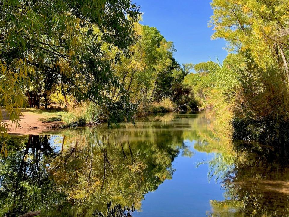
[[[148,117],[152,114],[158,113],[170,113],[167,109],[158,109],[154,112],[145,112],[139,113],[136,115],[136,118]],[[84,127],[84,126],[97,126],[101,123],[107,122],[107,119],[104,115],[99,115],[95,118],[94,122],[85,118],[85,115],[81,114],[82,112],[72,109],[65,108],[50,108],[50,109],[36,109],[36,108],[27,108],[21,110],[21,115],[19,119],[19,125],[17,126],[9,121],[7,112],[2,110],[2,115],[4,122],[8,124],[9,130],[8,134],[15,135],[27,135],[27,134],[43,134],[45,132],[51,131],[61,131],[67,128],[73,127]],[[89,116],[92,114],[88,114]],[[86,115],[87,116],[87,115]],[[91,119],[91,116],[90,116]]]

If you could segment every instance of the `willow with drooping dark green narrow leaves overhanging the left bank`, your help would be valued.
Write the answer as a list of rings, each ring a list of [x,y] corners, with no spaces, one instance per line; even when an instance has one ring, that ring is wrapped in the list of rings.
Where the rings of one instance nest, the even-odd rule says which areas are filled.
[[[131,119],[134,105],[111,69],[111,61],[129,56],[137,41],[133,24],[140,15],[131,0],[1,0],[1,105],[17,125],[23,93],[33,82],[46,89],[61,86],[76,101],[91,99],[108,111],[110,120]],[[102,45],[117,47],[114,60],[105,58]],[[117,102],[112,87],[120,88]],[[7,131],[1,115],[1,135]]]

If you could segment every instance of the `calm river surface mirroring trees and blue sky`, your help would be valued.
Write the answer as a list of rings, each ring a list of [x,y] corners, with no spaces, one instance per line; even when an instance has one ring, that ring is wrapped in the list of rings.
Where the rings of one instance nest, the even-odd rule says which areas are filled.
[[[206,113],[10,137],[0,216],[289,216],[285,149],[229,141]]]

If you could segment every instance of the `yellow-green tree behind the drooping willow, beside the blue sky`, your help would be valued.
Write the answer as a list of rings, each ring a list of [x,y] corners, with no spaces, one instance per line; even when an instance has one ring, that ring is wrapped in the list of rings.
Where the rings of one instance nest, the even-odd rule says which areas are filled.
[[[153,100],[171,94],[173,70],[179,64],[173,58],[176,51],[172,42],[160,34],[155,27],[135,24],[135,31],[140,36],[139,42],[130,47],[133,55],[122,56],[121,65],[114,66],[120,82],[131,91],[134,101],[141,101],[146,108]],[[161,86],[165,84],[166,86]],[[166,90],[166,87],[169,89]],[[169,91],[170,93],[161,93]],[[116,91],[116,97],[118,93]]]

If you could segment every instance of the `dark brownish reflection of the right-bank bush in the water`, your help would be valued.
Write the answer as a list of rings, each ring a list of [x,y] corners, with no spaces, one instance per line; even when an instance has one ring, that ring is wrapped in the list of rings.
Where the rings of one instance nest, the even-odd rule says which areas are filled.
[[[235,141],[234,163],[223,171],[224,201],[211,201],[210,216],[287,216],[289,155],[285,148]]]

